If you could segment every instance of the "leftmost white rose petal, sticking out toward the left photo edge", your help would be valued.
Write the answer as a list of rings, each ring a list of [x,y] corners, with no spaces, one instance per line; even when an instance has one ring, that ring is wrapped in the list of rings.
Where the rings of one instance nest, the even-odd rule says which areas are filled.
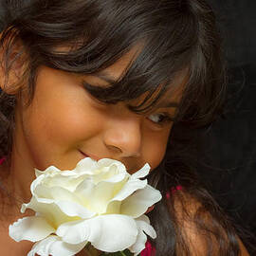
[[[16,242],[21,240],[37,242],[53,232],[55,229],[47,223],[46,219],[39,216],[25,217],[9,226],[9,236]]]

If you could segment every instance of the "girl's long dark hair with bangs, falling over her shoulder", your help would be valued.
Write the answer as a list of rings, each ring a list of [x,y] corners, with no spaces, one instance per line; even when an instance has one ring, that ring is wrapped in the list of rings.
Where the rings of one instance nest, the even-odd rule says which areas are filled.
[[[170,187],[184,190],[162,200],[151,213],[158,238],[157,255],[190,255],[189,243],[177,219],[174,198],[186,211],[186,196],[200,203],[188,219],[198,230],[207,230],[208,254],[217,241],[218,255],[238,255],[235,234],[210,195],[200,189],[185,160],[183,128],[205,127],[221,112],[225,96],[225,69],[215,18],[203,0],[33,0],[7,1],[7,23],[1,37],[2,65],[9,72],[16,62],[26,60],[20,82],[27,84],[33,99],[37,68],[46,65],[77,74],[91,74],[114,64],[133,46],[141,46],[137,57],[118,82],[107,88],[87,86],[100,101],[129,101],[148,92],[131,110],[143,113],[157,106],[174,76],[186,70],[188,82],[170,138],[167,155],[150,176],[163,194]],[[13,47],[22,42],[13,57]],[[65,46],[64,50],[61,50]],[[14,84],[15,86],[17,84]],[[13,86],[14,86],[13,85]],[[15,97],[19,96],[17,92]],[[0,97],[1,154],[10,155],[15,97]],[[27,104],[29,104],[29,102]],[[184,137],[185,134],[183,134]],[[177,154],[178,153],[178,154]],[[204,223],[207,212],[210,225]]]

